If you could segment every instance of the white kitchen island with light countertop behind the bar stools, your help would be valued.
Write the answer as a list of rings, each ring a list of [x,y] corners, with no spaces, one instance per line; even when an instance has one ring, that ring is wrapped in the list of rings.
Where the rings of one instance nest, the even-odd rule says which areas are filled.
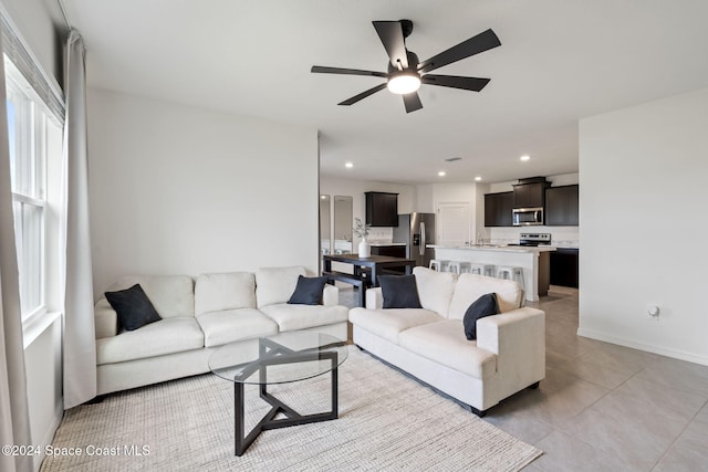
[[[462,245],[445,247],[431,244],[435,259],[442,261],[471,262],[494,266],[521,268],[523,271],[524,294],[529,302],[545,296],[550,283],[549,253],[555,251],[552,245]]]

